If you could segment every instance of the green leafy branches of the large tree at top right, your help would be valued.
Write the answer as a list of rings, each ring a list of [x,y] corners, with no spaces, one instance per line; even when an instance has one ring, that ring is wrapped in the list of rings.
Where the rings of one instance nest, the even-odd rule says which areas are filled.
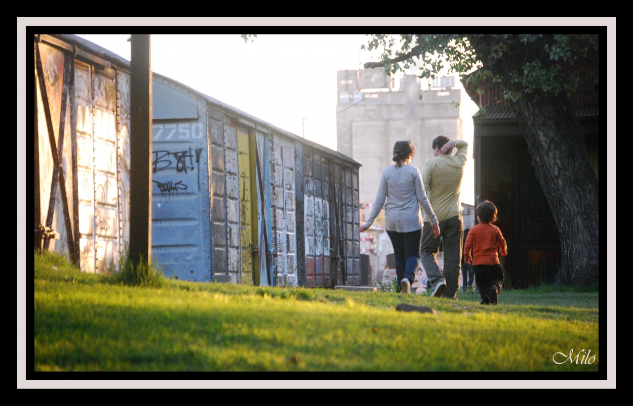
[[[374,34],[367,47],[378,49],[387,73],[417,70],[420,78],[458,73],[477,87],[484,80],[499,83],[504,97],[518,100],[534,92],[574,92],[598,83],[598,35],[589,34]],[[581,58],[595,69],[567,68]],[[580,75],[586,80],[581,80]],[[584,82],[584,83],[583,83]]]

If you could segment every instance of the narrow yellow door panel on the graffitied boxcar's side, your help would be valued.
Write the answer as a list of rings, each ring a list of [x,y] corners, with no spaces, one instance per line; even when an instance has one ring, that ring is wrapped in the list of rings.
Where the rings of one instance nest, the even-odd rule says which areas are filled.
[[[253,238],[257,236],[256,207],[253,207],[253,183],[255,180],[254,154],[251,149],[254,142],[249,139],[248,133],[237,128],[237,168],[239,171],[239,223],[240,223],[240,261],[242,269],[242,284],[259,285],[259,272],[253,272],[253,258],[259,257],[259,247]],[[253,137],[254,138],[254,137]],[[251,145],[252,144],[252,145]],[[253,158],[253,159],[251,159]],[[252,161],[252,162],[251,162]],[[256,218],[256,217],[255,217]],[[259,269],[259,267],[258,267]]]

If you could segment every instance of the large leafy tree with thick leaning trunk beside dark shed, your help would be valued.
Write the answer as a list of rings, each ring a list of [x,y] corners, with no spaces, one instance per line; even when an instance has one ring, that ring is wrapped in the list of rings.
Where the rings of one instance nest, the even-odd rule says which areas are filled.
[[[570,96],[598,102],[598,34],[370,34],[387,73],[458,73],[477,92],[497,88],[512,109],[556,223],[556,281],[598,283],[598,177]],[[481,106],[480,106],[481,107]]]

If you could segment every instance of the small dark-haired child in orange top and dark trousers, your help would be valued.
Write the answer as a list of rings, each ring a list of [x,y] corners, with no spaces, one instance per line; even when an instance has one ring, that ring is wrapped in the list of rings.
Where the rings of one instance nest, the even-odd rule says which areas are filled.
[[[471,228],[466,237],[464,262],[472,262],[475,269],[481,304],[496,305],[503,286],[503,269],[498,251],[505,257],[508,255],[508,246],[499,227],[492,225],[497,221],[497,207],[491,201],[484,200],[477,206],[477,220],[479,224]]]

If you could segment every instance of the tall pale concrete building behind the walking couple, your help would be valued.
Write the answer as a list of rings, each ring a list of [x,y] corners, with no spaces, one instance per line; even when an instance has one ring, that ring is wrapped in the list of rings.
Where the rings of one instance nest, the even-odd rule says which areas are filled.
[[[384,70],[341,70],[337,72],[337,151],[362,166],[359,170],[360,221],[370,214],[380,174],[394,164],[396,141],[411,140],[416,154],[411,164],[422,170],[433,156],[431,144],[437,135],[461,138],[470,144],[466,174],[462,181],[463,205],[474,204],[472,159],[473,121],[476,104],[468,97],[458,77],[448,76],[432,83],[415,75],[396,79]],[[472,216],[465,209],[465,216]],[[466,223],[473,221],[465,218]],[[370,280],[387,266],[391,243],[383,231],[382,214],[367,233],[361,233],[361,255],[370,255]]]

